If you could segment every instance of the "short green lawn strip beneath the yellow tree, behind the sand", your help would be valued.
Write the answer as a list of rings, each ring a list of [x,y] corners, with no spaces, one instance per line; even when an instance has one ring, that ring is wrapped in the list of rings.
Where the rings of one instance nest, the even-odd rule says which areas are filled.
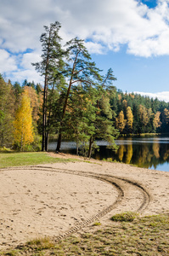
[[[72,161],[72,159],[63,160],[59,158],[54,158],[44,152],[0,153],[0,168],[10,167],[10,166],[32,166],[32,165],[39,165],[39,164],[46,164],[46,163],[57,163],[61,161],[67,162],[67,161]]]

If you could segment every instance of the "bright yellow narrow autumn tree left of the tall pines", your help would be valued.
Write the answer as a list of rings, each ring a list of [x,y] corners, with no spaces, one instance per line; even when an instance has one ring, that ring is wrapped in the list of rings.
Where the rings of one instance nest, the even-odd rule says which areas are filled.
[[[25,145],[32,143],[33,140],[30,98],[23,93],[14,119],[14,142],[20,145],[20,150],[24,150]]]

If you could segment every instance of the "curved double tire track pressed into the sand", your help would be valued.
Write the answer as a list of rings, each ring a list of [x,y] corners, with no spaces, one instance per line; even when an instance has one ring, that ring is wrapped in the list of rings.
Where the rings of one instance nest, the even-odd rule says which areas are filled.
[[[55,241],[59,241],[60,239],[64,238],[65,236],[70,236],[70,234],[75,233],[78,230],[81,230],[88,224],[92,224],[93,221],[98,220],[99,218],[104,217],[107,213],[111,212],[113,209],[118,209],[118,207],[122,207],[124,204],[125,208],[125,201],[133,201],[133,203],[137,200],[138,207],[132,209],[132,212],[143,212],[146,207],[148,207],[149,202],[151,201],[151,195],[149,190],[146,189],[141,183],[136,181],[123,178],[123,177],[116,177],[107,174],[95,174],[93,172],[78,172],[78,171],[71,171],[69,169],[59,169],[50,166],[22,166],[22,167],[11,167],[8,169],[1,169],[1,171],[8,171],[8,170],[35,170],[35,171],[44,171],[44,172],[62,172],[68,173],[72,175],[78,175],[83,177],[91,177],[94,179],[102,180],[106,183],[112,184],[115,189],[118,191],[118,196],[116,201],[110,205],[109,207],[104,208],[101,212],[93,215],[91,218],[87,218],[85,221],[81,222],[80,224],[76,224],[70,230],[67,230],[64,234],[57,236],[54,238]],[[137,192],[137,193],[136,193]],[[139,195],[139,196],[138,196]],[[135,203],[134,203],[135,205]]]

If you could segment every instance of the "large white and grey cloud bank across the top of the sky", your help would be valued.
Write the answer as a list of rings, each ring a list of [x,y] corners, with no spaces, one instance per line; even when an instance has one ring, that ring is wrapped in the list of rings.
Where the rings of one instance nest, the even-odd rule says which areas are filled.
[[[15,71],[20,61],[32,72],[26,61],[31,61],[33,53],[18,60],[12,54],[33,49],[37,55],[43,26],[55,20],[62,25],[64,41],[76,36],[87,39],[91,53],[118,51],[127,44],[132,55],[169,55],[168,4],[158,0],[155,9],[149,9],[136,0],[0,0],[0,49],[11,53],[3,70]],[[4,55],[0,58],[2,63]]]

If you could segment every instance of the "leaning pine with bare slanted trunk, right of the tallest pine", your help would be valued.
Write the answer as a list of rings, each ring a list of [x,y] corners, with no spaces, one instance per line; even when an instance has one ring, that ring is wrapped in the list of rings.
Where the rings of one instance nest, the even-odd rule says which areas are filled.
[[[87,91],[90,88],[97,86],[98,81],[101,80],[99,69],[95,63],[91,61],[91,56],[87,52],[84,42],[78,38],[71,39],[67,44],[67,68],[66,77],[68,80],[68,87],[66,89],[64,105],[62,108],[61,119],[59,123],[59,138],[56,151],[59,152],[63,126],[65,123],[65,113],[67,110],[68,101],[71,90],[74,85],[81,84]]]

